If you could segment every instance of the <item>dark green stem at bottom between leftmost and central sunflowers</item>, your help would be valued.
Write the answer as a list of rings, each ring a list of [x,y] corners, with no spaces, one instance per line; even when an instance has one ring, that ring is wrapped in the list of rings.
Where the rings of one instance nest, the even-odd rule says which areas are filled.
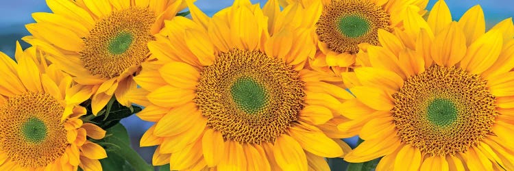
[[[154,171],[154,167],[150,166],[147,161],[145,161],[143,158],[140,157],[138,153],[136,153],[136,150],[134,150],[132,147],[130,147],[129,144],[125,144],[123,142],[114,142],[117,144],[120,149],[117,150],[115,153],[118,153],[120,157],[125,159],[134,170],[140,170],[140,171]]]

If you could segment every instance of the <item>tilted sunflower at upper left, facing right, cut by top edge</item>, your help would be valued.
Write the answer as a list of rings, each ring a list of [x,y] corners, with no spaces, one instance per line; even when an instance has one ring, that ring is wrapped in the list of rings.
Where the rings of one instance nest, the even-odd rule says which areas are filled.
[[[147,42],[185,8],[182,0],[47,0],[53,13],[38,12],[23,38],[52,53],[48,59],[92,91],[97,114],[114,94],[136,88],[133,75],[149,54]]]

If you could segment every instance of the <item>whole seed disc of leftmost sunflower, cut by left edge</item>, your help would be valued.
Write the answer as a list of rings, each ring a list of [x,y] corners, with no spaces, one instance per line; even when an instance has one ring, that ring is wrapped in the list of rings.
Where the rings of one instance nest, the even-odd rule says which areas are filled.
[[[25,92],[0,105],[0,151],[22,168],[41,168],[69,145],[64,107],[51,94]],[[1,167],[0,167],[1,168]]]

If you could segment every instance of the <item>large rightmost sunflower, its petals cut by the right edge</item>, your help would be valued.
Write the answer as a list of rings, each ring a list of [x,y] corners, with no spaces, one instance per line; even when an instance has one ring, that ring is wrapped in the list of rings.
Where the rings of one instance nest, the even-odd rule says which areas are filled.
[[[384,156],[377,170],[514,170],[514,25],[485,32],[480,6],[458,22],[439,1],[428,21],[408,10],[405,31],[379,31],[343,104],[340,131],[365,140],[345,156]],[[408,162],[406,162],[408,161]]]

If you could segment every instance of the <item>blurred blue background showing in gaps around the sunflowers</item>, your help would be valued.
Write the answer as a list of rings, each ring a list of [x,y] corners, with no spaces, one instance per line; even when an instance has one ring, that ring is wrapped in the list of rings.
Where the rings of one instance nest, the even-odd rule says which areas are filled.
[[[266,1],[252,0],[253,3],[261,4]],[[197,0],[195,4],[206,14],[212,16],[215,12],[230,6],[232,2],[233,0]],[[428,4],[429,10],[435,2],[435,0],[430,0]],[[467,9],[480,4],[485,12],[488,28],[505,18],[514,16],[514,0],[447,0],[446,3],[448,3],[452,11],[454,20],[458,20]],[[24,25],[34,23],[31,17],[32,12],[50,12],[50,10],[43,0],[16,0],[2,1],[0,3],[0,51],[14,56],[16,40],[19,40],[23,47],[28,46],[28,44],[23,43],[21,38],[29,35]],[[136,116],[125,118],[121,122],[130,133],[134,149],[150,163],[155,147],[139,148],[138,140],[153,123],[140,120]],[[347,142],[351,146],[355,146],[356,140],[356,137],[354,137],[347,140]]]

